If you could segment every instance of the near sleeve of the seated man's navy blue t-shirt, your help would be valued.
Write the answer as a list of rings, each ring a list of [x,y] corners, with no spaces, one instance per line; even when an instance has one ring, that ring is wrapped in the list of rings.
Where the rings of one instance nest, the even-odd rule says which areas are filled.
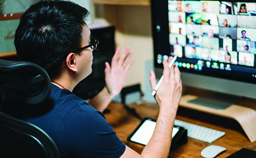
[[[103,113],[83,102],[63,117],[58,137],[66,157],[120,157],[125,150]]]

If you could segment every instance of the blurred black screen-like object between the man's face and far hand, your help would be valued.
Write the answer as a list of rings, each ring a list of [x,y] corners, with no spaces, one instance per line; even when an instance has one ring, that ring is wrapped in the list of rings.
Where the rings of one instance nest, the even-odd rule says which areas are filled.
[[[89,27],[90,28],[90,27]],[[91,35],[99,40],[98,50],[93,51],[92,72],[73,90],[80,98],[93,98],[105,87],[105,62],[111,64],[115,53],[115,27],[91,28]]]

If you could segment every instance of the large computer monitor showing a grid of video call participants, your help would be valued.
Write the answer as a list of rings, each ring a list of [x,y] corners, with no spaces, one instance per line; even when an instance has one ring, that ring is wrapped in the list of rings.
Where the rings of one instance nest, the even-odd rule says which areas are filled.
[[[157,78],[177,54],[183,85],[256,99],[255,1],[152,0],[151,13]]]

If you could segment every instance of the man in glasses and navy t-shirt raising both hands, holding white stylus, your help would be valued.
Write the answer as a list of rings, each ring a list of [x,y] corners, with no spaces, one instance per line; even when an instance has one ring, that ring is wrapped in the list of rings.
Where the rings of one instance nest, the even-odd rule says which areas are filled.
[[[106,62],[106,87],[88,104],[72,93],[92,69],[92,51],[98,41],[86,25],[89,12],[69,1],[40,1],[25,11],[15,33],[18,56],[42,66],[51,79],[51,95],[43,104],[13,104],[5,98],[3,110],[43,129],[58,146],[61,157],[167,157],[172,129],[181,97],[180,72],[164,61],[164,80],[155,94],[159,115],[154,134],[141,155],[125,146],[106,121],[102,111],[123,86],[132,66],[127,47],[119,57],[117,48],[111,66]],[[156,86],[150,71],[150,84]],[[8,106],[7,106],[8,105]],[[12,106],[9,106],[12,105]]]

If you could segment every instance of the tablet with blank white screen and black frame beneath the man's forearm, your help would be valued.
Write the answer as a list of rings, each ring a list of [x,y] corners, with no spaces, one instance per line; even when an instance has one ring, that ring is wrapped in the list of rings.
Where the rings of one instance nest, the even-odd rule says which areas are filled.
[[[134,132],[127,138],[127,140],[147,145],[150,138],[153,135],[154,129],[155,129],[156,121],[152,120],[150,118],[144,118],[140,125],[134,130]],[[175,141],[175,139],[179,138],[179,135],[181,133],[181,128],[178,126],[174,126],[173,132],[172,132],[172,142]],[[182,128],[183,129],[183,128]]]

